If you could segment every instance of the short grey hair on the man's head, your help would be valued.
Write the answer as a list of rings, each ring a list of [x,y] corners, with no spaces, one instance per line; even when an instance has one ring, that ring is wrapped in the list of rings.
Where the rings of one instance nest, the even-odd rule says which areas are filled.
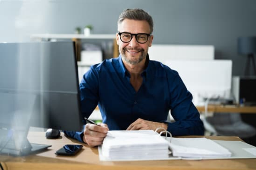
[[[117,24],[121,24],[125,19],[133,19],[139,21],[147,21],[150,27],[150,34],[153,32],[153,19],[152,17],[145,12],[143,9],[134,8],[134,9],[125,9],[120,15]]]

